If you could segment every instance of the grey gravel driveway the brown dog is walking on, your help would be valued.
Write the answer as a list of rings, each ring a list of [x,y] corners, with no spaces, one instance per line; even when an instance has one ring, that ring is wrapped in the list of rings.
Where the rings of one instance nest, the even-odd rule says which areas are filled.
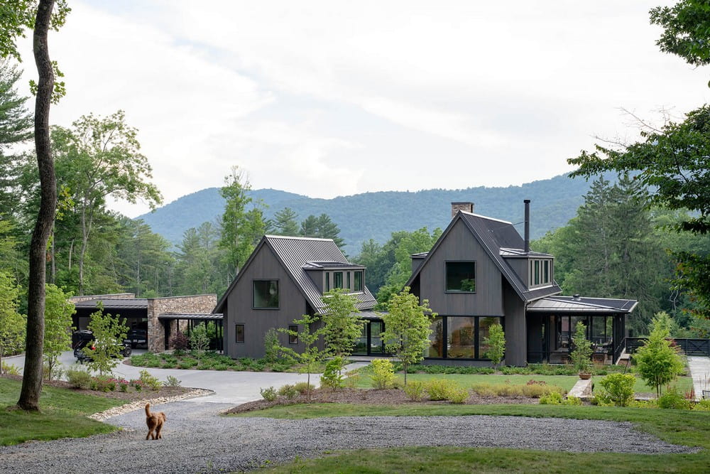
[[[342,417],[275,420],[218,416],[232,404],[174,402],[165,436],[145,441],[143,411],[107,421],[123,430],[90,438],[0,448],[4,473],[211,473],[250,470],[266,461],[336,449],[386,446],[486,446],[552,451],[689,453],[629,423],[520,416]]]

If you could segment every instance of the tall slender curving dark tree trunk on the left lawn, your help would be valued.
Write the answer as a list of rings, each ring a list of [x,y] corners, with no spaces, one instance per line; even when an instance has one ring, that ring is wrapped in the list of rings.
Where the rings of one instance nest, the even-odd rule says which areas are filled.
[[[32,411],[39,410],[40,392],[42,392],[47,242],[57,207],[57,183],[49,134],[49,109],[54,89],[54,74],[47,44],[53,8],[54,0],[40,0],[33,37],[33,52],[39,76],[35,100],[35,149],[40,174],[40,209],[30,243],[25,369],[20,399],[17,402],[21,409]]]

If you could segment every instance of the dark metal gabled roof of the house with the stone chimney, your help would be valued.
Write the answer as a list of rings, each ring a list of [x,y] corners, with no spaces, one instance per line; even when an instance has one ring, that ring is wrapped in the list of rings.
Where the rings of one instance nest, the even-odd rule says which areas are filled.
[[[457,212],[452,221],[449,223],[449,227],[444,230],[441,237],[439,237],[439,240],[437,240],[434,244],[434,247],[432,247],[430,252],[427,254],[424,262],[422,262],[422,264],[414,271],[407,282],[407,286],[411,286],[413,281],[417,278],[417,276],[419,276],[420,271],[426,266],[427,262],[429,262],[432,254],[435,254],[441,242],[444,242],[444,239],[446,239],[449,232],[451,232],[454,225],[456,225],[459,220],[463,222],[464,225],[466,225],[466,227],[471,231],[471,234],[479,242],[479,244],[481,244],[481,247],[485,249],[488,256],[491,257],[491,260],[493,260],[493,263],[496,264],[498,269],[503,274],[503,277],[508,281],[510,286],[513,287],[513,290],[515,290],[515,293],[518,293],[518,296],[520,296],[523,301],[533,301],[537,298],[543,298],[545,296],[561,293],[562,290],[559,289],[557,284],[544,286],[542,288],[538,287],[528,289],[527,284],[525,284],[525,282],[520,279],[520,276],[518,276],[518,274],[510,268],[510,265],[506,262],[506,258],[503,254],[501,254],[501,249],[503,249],[504,254],[510,254],[509,256],[511,257],[513,256],[513,252],[511,252],[512,250],[515,250],[516,256],[525,254],[525,251],[522,250],[523,247],[525,247],[523,237],[520,237],[520,234],[518,234],[518,231],[515,230],[515,227],[513,227],[511,222],[493,219],[492,217],[486,217],[484,215],[472,214],[471,212],[461,210]],[[532,253],[531,255],[533,257],[550,257],[547,256],[547,254]]]

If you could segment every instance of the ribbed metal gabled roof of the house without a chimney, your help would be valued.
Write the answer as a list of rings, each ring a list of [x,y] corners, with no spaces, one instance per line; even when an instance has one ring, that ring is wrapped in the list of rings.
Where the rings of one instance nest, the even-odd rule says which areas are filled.
[[[264,246],[271,249],[302,293],[303,297],[318,313],[321,313],[325,306],[323,296],[314,281],[308,275],[307,269],[324,269],[334,266],[340,268],[364,268],[364,266],[353,265],[348,262],[343,252],[332,239],[265,235],[256,246],[256,249],[251,253],[249,260],[246,261],[246,264],[244,264],[234,281],[232,281],[229,289],[227,289],[219,302],[217,302],[217,306],[214,308],[215,313],[224,312],[224,303],[226,303],[227,296],[231,293],[232,289],[234,289],[241,275],[245,273],[244,270],[249,268],[251,261],[258,252],[262,251],[262,247]],[[315,264],[318,263],[323,265],[320,267],[315,266]],[[352,296],[356,299],[357,302],[355,306],[359,310],[372,309],[377,303],[372,293],[370,293],[370,290],[367,289],[367,286],[363,287],[362,292],[352,293]]]

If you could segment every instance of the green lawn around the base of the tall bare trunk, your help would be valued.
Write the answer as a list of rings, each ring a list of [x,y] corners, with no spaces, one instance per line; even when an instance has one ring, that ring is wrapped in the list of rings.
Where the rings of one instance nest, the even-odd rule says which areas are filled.
[[[0,377],[0,445],[29,440],[82,438],[109,433],[116,427],[90,420],[87,415],[124,402],[104,397],[75,394],[67,389],[44,387],[40,413],[11,409],[20,395],[21,382]]]

